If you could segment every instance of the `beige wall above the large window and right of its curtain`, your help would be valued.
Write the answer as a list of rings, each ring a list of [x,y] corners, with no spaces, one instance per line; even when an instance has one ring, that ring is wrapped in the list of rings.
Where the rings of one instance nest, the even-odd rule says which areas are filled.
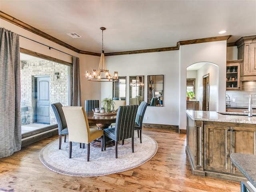
[[[24,30],[23,28],[20,28],[14,24],[11,24],[2,19],[0,19],[0,27],[3,27],[7,30],[10,30],[12,32],[15,32],[16,34],[21,35],[20,36],[20,47],[21,48],[25,48],[25,49],[28,49],[28,50],[31,50],[34,52],[38,52],[40,54],[44,54],[47,56],[51,56],[53,58],[57,58],[57,59],[60,59],[60,60],[66,61],[66,62],[70,62],[70,63],[72,63],[72,56],[79,57],[80,58],[80,79],[81,79],[81,104],[82,104],[82,106],[84,106],[86,99],[100,100],[100,95],[101,95],[100,84],[97,82],[89,82],[85,78],[86,70],[92,70],[94,68],[98,69],[100,57],[78,54],[70,49],[64,48],[63,46],[60,46],[50,40],[42,38],[41,36],[38,36],[32,32]],[[33,41],[28,40],[27,38],[24,38],[22,36],[30,38],[30,39],[40,42],[42,44],[46,44],[47,46],[56,48],[60,51],[68,53],[72,56],[62,53],[60,51],[54,50],[54,49],[49,49],[47,46],[44,46],[37,42],[33,42]]]

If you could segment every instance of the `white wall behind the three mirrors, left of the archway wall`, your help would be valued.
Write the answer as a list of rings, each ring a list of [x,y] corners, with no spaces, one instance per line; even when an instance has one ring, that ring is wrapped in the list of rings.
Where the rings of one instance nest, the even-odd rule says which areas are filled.
[[[106,65],[110,73],[117,70],[119,76],[126,76],[127,104],[129,104],[129,76],[144,75],[144,100],[146,101],[147,76],[164,75],[164,106],[148,106],[144,115],[144,123],[178,125],[178,53],[179,51],[167,51],[106,57]],[[112,84],[103,84],[101,98],[112,97]],[[145,116],[148,116],[148,120]]]

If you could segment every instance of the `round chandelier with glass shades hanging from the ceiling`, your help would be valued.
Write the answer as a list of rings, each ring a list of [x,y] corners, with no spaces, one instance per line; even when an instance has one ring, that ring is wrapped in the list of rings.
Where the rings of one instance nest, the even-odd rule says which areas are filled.
[[[92,72],[86,71],[86,78],[89,81],[98,81],[98,82],[109,82],[109,81],[117,81],[118,80],[118,72],[114,72],[114,76],[112,76],[106,67],[106,61],[103,50],[103,31],[106,30],[105,27],[100,27],[102,30],[102,51],[100,55],[100,64],[98,70],[93,69]]]

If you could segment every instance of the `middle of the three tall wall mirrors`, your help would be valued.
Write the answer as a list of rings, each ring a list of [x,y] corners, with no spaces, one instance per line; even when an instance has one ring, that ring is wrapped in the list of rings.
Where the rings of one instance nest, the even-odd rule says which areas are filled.
[[[144,76],[130,76],[130,105],[140,105],[144,101]]]

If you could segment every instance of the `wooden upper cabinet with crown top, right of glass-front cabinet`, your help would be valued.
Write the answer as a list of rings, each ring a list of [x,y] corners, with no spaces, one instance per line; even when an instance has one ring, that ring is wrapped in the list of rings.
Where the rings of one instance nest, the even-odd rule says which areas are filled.
[[[238,59],[242,59],[241,81],[256,81],[256,35],[236,41]]]

